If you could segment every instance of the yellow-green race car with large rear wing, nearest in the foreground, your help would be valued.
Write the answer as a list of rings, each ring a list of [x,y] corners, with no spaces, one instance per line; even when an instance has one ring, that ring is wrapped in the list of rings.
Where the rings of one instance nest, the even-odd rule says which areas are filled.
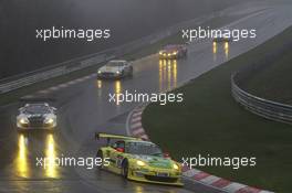
[[[101,169],[122,174],[128,180],[184,185],[180,163],[164,154],[155,143],[107,133],[95,133],[95,138],[107,139],[107,146],[100,148],[96,154],[100,160],[109,160],[108,164],[102,164]]]

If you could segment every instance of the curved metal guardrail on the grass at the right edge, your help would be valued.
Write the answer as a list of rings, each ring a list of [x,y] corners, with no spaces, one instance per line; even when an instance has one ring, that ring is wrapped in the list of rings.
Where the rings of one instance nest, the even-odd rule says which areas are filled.
[[[231,76],[231,94],[248,110],[268,119],[292,124],[292,106],[257,97],[241,89],[237,84],[238,73]]]

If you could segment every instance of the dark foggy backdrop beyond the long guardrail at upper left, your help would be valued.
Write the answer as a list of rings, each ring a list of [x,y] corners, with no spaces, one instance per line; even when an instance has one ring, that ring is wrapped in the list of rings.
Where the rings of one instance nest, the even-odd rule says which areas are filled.
[[[96,53],[240,0],[1,0],[0,78]],[[35,39],[35,29],[111,29],[111,39]]]

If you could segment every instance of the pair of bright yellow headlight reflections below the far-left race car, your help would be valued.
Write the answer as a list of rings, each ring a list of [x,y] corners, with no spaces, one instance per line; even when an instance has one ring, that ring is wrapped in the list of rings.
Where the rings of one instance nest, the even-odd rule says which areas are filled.
[[[43,165],[36,165],[38,159],[45,159]],[[13,161],[13,173],[19,178],[59,178],[56,143],[53,133],[19,133],[18,151]]]

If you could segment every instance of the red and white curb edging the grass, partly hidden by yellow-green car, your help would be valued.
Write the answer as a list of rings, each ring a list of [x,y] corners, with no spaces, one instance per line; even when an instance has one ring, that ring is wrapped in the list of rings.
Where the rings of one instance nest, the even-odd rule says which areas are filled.
[[[149,140],[149,137],[145,133],[145,130],[142,126],[142,114],[145,108],[145,105],[136,107],[128,115],[126,127],[128,132],[127,135]],[[186,180],[191,180],[210,189],[228,193],[272,193],[270,191],[264,191],[241,183],[231,182],[229,180],[211,175],[197,169],[190,170],[188,167],[184,167],[182,176]]]

